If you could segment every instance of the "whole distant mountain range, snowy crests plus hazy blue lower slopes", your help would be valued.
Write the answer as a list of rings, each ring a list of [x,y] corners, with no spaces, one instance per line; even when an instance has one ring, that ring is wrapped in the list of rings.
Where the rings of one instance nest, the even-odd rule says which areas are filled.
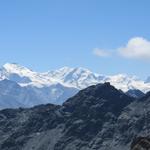
[[[69,67],[38,73],[16,63],[6,63],[0,69],[0,108],[61,104],[79,90],[104,82],[124,92],[150,91],[149,78],[142,81],[125,74],[105,76],[85,68]]]

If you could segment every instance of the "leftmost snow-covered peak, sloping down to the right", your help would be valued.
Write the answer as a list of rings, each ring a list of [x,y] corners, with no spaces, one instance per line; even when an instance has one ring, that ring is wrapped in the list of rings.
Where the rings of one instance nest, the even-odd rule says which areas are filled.
[[[58,83],[55,79],[16,63],[6,63],[0,71],[0,78],[12,80],[21,86],[43,87]]]

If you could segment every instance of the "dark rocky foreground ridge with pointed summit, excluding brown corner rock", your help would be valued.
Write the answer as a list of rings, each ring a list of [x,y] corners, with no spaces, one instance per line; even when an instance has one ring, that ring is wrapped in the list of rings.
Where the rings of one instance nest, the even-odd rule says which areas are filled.
[[[150,129],[150,93],[141,99],[109,83],[80,91],[62,106],[0,111],[1,150],[129,150]]]

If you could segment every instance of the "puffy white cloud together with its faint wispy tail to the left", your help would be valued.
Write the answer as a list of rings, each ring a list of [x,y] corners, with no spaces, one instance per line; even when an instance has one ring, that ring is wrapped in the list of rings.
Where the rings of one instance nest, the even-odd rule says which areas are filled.
[[[150,41],[143,37],[131,38],[125,46],[108,50],[94,48],[93,54],[99,57],[124,57],[128,59],[149,60],[150,59]]]

